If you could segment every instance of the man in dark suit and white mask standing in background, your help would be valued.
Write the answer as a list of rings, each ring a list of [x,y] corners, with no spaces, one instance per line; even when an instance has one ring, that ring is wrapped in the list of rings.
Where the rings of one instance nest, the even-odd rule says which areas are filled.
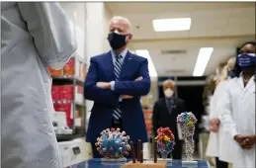
[[[175,83],[172,80],[166,80],[163,83],[165,97],[155,103],[152,122],[155,135],[160,126],[169,127],[172,130],[176,143],[172,151],[172,158],[182,159],[182,140],[179,139],[176,119],[179,114],[186,112],[186,106],[183,100],[174,98],[174,90]]]

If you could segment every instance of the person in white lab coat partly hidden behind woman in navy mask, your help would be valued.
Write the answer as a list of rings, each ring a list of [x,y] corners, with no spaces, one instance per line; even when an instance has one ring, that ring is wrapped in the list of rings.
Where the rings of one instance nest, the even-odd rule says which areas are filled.
[[[211,100],[211,113],[210,113],[210,138],[207,147],[206,155],[209,157],[215,157],[216,168],[227,168],[228,162],[231,163],[229,144],[232,139],[223,131],[223,127],[220,125],[218,117],[220,114],[216,111],[216,106],[219,101],[221,101],[224,89],[229,81],[229,79],[234,77],[235,57],[230,58],[227,64],[221,70],[221,76],[219,77],[219,83]]]

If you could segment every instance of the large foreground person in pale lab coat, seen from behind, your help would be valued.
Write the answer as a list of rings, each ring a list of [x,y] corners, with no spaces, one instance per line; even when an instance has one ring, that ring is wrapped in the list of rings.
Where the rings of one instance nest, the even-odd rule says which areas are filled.
[[[59,168],[51,79],[76,50],[58,3],[1,3],[1,167]]]

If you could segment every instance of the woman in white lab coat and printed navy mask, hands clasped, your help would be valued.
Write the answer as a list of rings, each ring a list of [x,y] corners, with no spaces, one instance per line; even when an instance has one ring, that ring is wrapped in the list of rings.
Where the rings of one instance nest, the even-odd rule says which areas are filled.
[[[255,168],[255,42],[246,42],[236,57],[236,77],[226,85],[216,107],[224,131],[236,142],[230,156],[233,168]]]

